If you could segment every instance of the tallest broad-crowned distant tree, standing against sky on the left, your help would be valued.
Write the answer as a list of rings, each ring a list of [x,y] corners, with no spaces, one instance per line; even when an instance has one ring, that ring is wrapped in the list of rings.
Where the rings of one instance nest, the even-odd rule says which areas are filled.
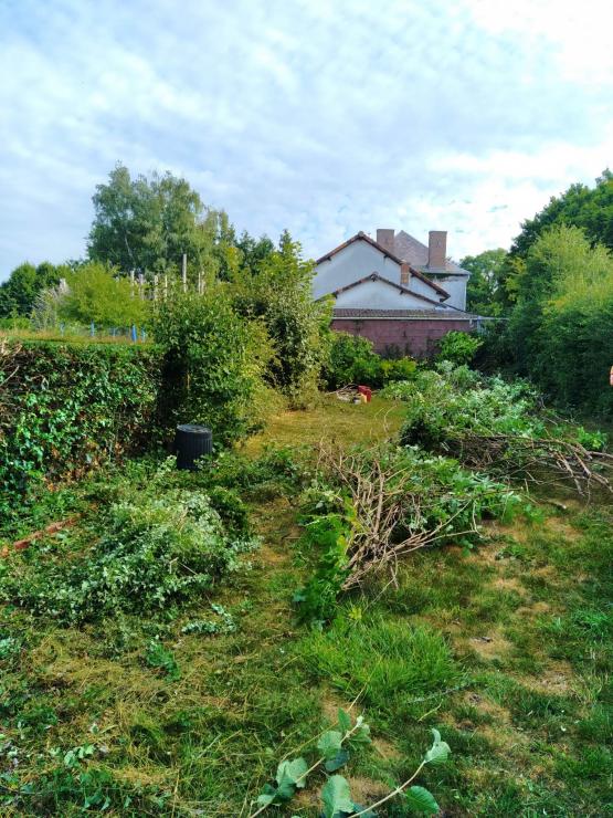
[[[93,201],[92,260],[123,272],[176,273],[186,253],[190,277],[216,271],[214,219],[186,179],[170,172],[133,179],[119,164]]]

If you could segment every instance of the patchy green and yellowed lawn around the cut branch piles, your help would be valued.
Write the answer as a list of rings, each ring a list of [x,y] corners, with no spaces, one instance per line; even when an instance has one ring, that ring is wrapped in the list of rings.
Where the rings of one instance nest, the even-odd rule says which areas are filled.
[[[243,451],[388,437],[401,419],[399,403],[325,399],[283,413]],[[263,537],[251,569],[189,611],[71,628],[6,606],[0,812],[246,818],[282,757],[317,758],[341,705],[371,726],[372,745],[347,767],[362,804],[411,775],[436,727],[453,755],[416,783],[446,816],[613,815],[612,515],[556,501],[492,524],[471,553],[418,553],[397,585],[384,577],[347,598],[324,632],[293,615],[306,570],[297,500],[266,492],[249,495]],[[88,502],[75,526],[28,552],[86,547],[97,535]],[[211,602],[236,629],[183,633]],[[324,780],[269,815],[315,818]],[[392,800],[379,815],[413,812]]]

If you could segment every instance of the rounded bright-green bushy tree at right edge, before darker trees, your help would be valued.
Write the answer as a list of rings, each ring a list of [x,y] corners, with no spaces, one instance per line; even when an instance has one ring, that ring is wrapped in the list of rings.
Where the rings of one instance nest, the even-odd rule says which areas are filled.
[[[528,251],[506,334],[515,368],[562,405],[610,415],[612,321],[611,253],[578,228],[542,233]]]

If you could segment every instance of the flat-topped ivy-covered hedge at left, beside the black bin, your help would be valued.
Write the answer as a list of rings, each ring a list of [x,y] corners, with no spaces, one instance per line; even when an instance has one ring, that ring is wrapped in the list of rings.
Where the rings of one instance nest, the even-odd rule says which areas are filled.
[[[44,479],[149,443],[160,385],[154,346],[0,342],[0,516]]]

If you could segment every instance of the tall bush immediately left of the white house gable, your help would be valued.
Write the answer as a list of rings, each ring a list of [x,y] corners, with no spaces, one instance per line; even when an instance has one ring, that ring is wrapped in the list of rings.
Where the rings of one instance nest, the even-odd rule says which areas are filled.
[[[241,271],[233,282],[235,310],[266,327],[275,355],[266,369],[272,386],[295,406],[314,397],[326,357],[328,306],[313,301],[314,264],[300,256],[300,245],[285,232],[278,250],[267,253],[257,271]]]

